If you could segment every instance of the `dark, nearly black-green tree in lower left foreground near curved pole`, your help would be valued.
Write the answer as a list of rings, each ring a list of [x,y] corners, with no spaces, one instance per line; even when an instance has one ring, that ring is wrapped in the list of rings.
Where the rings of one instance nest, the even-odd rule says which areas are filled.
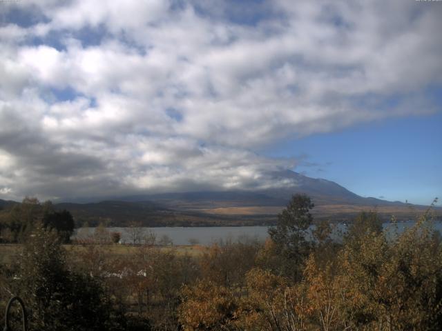
[[[37,225],[18,262],[13,291],[30,308],[32,330],[109,330],[113,310],[99,280],[70,270],[55,232]]]

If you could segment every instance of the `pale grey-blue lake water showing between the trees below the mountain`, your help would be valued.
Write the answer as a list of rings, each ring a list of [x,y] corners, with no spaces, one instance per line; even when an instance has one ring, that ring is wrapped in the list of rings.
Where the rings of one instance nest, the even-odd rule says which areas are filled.
[[[414,221],[399,222],[398,232],[403,232],[406,228],[414,225]],[[442,234],[442,222],[434,222],[433,228],[439,230]],[[384,223],[384,228],[388,232],[392,232],[392,224]],[[314,228],[312,226],[311,228]],[[268,237],[268,226],[225,226],[225,227],[198,227],[198,228],[182,228],[182,227],[164,227],[164,228],[141,228],[142,237],[149,234],[155,234],[157,241],[164,236],[169,237],[174,245],[189,245],[191,243],[200,243],[201,245],[210,245],[217,241],[238,241],[247,238],[265,241]],[[345,224],[338,224],[334,231],[335,238],[340,237],[346,229]],[[122,235],[122,243],[131,243],[131,228],[106,228],[108,232],[119,232]],[[93,235],[95,228],[76,229],[73,239],[84,239]]]

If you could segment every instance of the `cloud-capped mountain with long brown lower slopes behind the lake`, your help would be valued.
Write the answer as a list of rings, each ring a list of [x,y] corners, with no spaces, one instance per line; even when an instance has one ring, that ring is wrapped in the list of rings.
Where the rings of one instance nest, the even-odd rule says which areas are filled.
[[[388,220],[414,219],[427,206],[361,197],[327,179],[314,179],[291,170],[269,174],[271,180],[287,183],[280,188],[256,190],[193,191],[136,194],[124,197],[82,198],[82,203],[55,203],[55,208],[69,210],[77,226],[84,223],[109,226],[220,226],[271,225],[291,196],[307,194],[315,203],[315,219],[351,221],[363,210],[376,210]],[[0,200],[0,207],[14,201]],[[435,208],[442,213],[442,208]],[[440,216],[439,216],[440,217]]]

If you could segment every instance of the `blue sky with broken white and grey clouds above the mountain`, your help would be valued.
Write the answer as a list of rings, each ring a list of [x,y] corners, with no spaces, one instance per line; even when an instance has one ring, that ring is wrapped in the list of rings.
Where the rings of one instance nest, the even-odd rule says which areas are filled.
[[[0,199],[442,194],[442,1],[1,1]]]

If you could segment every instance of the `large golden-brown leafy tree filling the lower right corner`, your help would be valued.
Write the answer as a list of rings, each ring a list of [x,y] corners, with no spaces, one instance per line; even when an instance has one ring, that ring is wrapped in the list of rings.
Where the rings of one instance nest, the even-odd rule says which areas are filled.
[[[355,328],[441,330],[442,247],[425,217],[394,238],[366,231],[340,253]]]

